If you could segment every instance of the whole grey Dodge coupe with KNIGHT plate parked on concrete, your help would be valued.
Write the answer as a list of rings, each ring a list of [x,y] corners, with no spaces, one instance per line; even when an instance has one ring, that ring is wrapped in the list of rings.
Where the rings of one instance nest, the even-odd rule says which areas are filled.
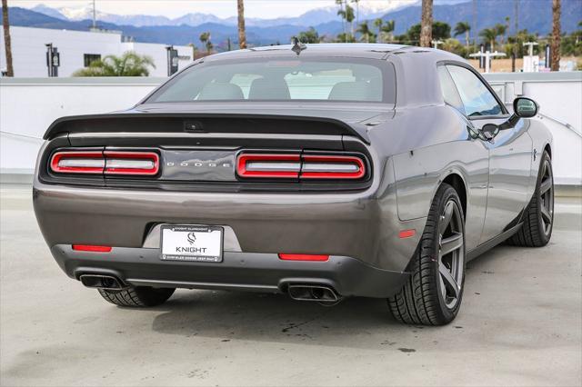
[[[35,213],[65,273],[117,305],[176,288],[364,296],[445,324],[468,260],[552,233],[551,135],[534,101],[513,110],[443,51],[212,55],[130,110],[56,120]]]

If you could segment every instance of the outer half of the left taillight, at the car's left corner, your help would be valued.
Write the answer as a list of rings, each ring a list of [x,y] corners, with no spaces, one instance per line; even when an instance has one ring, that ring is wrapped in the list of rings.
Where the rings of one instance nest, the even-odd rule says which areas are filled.
[[[57,152],[51,169],[59,174],[102,174],[105,159],[101,151]]]

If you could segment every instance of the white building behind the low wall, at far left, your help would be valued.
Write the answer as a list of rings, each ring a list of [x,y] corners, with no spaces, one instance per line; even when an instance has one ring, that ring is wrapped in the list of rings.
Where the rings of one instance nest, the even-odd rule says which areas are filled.
[[[150,76],[167,76],[167,45],[124,42],[121,32],[89,32],[55,30],[47,28],[10,27],[12,56],[15,76],[44,77],[48,74],[46,65],[46,45],[58,49],[60,66],[58,76],[71,76],[76,70],[88,66],[93,60],[106,55],[122,55],[125,51],[135,51],[139,55],[149,55],[154,59],[155,69]],[[6,69],[4,34],[0,34],[0,69]],[[178,68],[182,69],[192,61],[192,48],[175,45],[178,52]]]

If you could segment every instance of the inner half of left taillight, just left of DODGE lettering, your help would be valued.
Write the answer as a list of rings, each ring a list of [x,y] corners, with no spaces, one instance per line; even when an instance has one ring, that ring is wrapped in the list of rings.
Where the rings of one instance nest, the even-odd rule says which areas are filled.
[[[153,152],[105,151],[105,174],[152,176],[160,169],[160,158]]]

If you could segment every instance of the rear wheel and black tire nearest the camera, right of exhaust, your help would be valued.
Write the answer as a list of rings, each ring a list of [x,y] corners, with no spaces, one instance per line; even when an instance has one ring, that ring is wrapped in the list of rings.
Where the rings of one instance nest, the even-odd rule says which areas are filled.
[[[449,210],[454,213],[449,215]],[[412,275],[400,292],[388,298],[390,312],[396,320],[425,325],[452,322],[463,298],[465,256],[463,206],[457,191],[442,184],[408,267]],[[447,269],[448,273],[444,273]]]

